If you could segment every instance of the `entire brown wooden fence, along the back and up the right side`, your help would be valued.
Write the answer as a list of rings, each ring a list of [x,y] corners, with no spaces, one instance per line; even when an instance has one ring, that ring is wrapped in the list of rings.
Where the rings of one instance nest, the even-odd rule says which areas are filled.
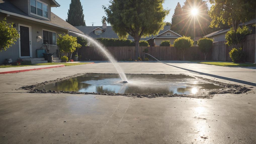
[[[229,57],[229,51],[233,48],[232,46],[225,45],[225,41],[214,42],[212,49],[207,55],[206,60],[217,60],[217,61],[232,61]],[[156,57],[159,60],[182,60],[183,53],[175,47],[140,47],[140,55],[144,57],[144,49],[148,48],[148,54]],[[129,60],[137,59],[135,57],[135,47],[106,47],[110,54],[116,60]],[[243,43],[243,51],[246,54],[247,62],[254,62],[255,54],[255,34],[247,35]],[[94,47],[82,47],[79,49],[79,55],[82,55],[81,60],[107,60],[102,55],[100,50]],[[148,57],[150,58],[150,57]],[[199,50],[198,47],[191,47],[186,50],[185,60],[204,60],[204,54]]]

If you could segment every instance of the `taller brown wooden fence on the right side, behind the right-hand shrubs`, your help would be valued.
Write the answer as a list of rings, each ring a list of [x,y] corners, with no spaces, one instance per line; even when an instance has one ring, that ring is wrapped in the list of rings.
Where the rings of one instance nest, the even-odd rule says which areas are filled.
[[[233,46],[228,46],[225,41],[214,42],[212,44],[212,60],[217,61],[232,61],[229,56],[230,50]],[[254,62],[255,55],[255,34],[247,35],[243,43],[243,51],[246,54],[247,62]]]

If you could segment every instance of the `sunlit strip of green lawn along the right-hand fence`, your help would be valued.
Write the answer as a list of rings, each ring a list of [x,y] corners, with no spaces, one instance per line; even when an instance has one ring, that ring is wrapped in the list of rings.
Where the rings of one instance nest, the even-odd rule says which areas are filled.
[[[215,66],[223,66],[223,67],[255,67],[256,64],[253,63],[234,63],[234,62],[197,62],[202,64],[210,64]]]

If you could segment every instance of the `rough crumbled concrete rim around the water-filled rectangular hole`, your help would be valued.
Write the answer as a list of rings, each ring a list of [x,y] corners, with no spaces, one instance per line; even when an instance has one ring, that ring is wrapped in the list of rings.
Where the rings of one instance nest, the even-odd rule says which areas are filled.
[[[236,84],[227,84],[227,83],[222,83],[219,81],[214,81],[214,80],[209,80],[207,78],[199,77],[199,76],[194,76],[197,78],[201,78],[202,80],[208,81],[210,83],[214,83],[216,85],[220,85],[225,87],[225,89],[214,89],[208,91],[208,93],[202,93],[201,95],[186,95],[186,94],[159,94],[159,93],[153,93],[153,94],[137,94],[137,93],[88,93],[88,92],[77,92],[77,91],[62,91],[62,90],[45,90],[45,89],[37,89],[36,87],[43,86],[46,84],[50,83],[55,83],[59,81],[63,81],[69,78],[81,76],[84,74],[113,74],[113,73],[79,73],[63,78],[57,78],[56,80],[51,80],[51,81],[45,81],[39,84],[35,85],[29,85],[29,86],[23,86],[20,87],[19,89],[25,89],[28,90],[28,93],[55,93],[55,94],[92,94],[92,95],[108,95],[108,96],[127,96],[127,97],[133,97],[133,98],[156,98],[156,97],[188,97],[188,98],[203,98],[203,99],[210,99],[212,98],[215,94],[242,94],[242,93],[247,93],[248,91],[252,90],[247,87],[241,86],[241,85],[236,85]],[[148,74],[152,75],[152,74]],[[166,75],[166,74],[160,74],[160,75]],[[168,75],[185,75],[185,74],[168,74]],[[189,75],[187,75],[189,76]],[[253,87],[250,87],[253,88]]]

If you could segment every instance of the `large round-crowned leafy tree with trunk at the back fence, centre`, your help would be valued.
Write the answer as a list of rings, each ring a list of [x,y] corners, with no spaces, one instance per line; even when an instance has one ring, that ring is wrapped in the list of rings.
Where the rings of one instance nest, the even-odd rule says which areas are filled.
[[[163,8],[164,0],[111,0],[108,7],[102,6],[107,21],[120,38],[131,35],[135,41],[136,57],[142,36],[157,35],[163,29],[164,18],[169,10]]]

